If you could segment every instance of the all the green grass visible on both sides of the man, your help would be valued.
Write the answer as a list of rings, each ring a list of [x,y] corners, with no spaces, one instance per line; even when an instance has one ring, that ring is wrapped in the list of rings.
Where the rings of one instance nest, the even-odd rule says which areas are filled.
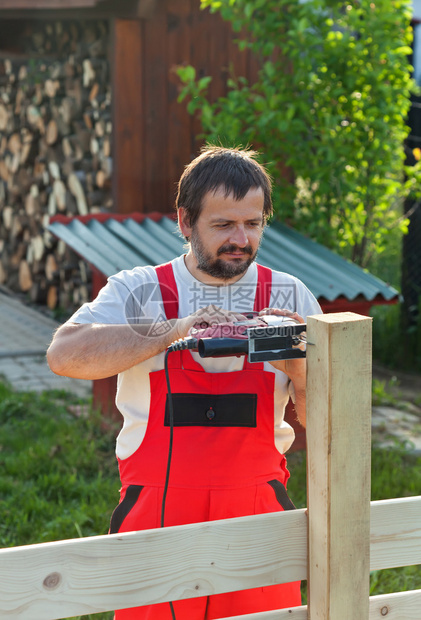
[[[105,534],[118,502],[116,427],[64,392],[15,393],[0,383],[0,546]],[[372,499],[421,494],[421,457],[373,448]],[[289,494],[306,505],[304,453],[288,457]],[[421,588],[421,567],[376,571],[371,594]],[[304,589],[305,591],[305,589]],[[84,616],[111,620],[113,614]]]

